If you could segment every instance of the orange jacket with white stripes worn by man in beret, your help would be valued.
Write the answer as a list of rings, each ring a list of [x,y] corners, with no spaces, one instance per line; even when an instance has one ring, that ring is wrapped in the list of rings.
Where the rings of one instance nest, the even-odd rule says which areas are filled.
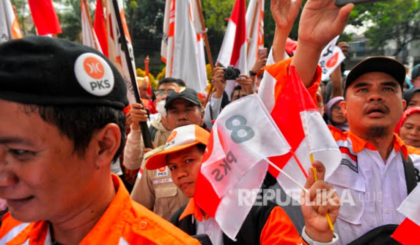
[[[105,213],[79,245],[200,244],[176,226],[132,201],[122,181],[112,175],[116,194]],[[10,213],[3,217],[0,244],[51,244],[49,221],[22,223]]]

